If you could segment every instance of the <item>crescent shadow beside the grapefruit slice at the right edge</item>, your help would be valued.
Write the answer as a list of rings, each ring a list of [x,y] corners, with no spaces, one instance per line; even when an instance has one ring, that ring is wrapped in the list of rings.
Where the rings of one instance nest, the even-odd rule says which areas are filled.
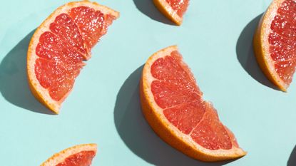
[[[264,73],[262,73],[256,61],[254,50],[252,47],[252,38],[261,16],[262,14],[257,16],[255,19],[252,19],[252,21],[250,21],[250,23],[245,26],[242,33],[240,33],[240,37],[238,38],[238,42],[236,44],[236,54],[240,65],[243,66],[245,71],[247,71],[247,73],[252,76],[252,78],[254,78],[262,85],[278,90],[278,88],[276,88],[275,85],[273,85],[266,78]]]

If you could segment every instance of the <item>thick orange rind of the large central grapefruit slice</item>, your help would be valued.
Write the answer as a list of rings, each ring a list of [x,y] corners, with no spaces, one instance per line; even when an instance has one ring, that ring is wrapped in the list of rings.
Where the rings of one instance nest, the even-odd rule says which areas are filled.
[[[178,128],[165,118],[163,109],[160,108],[154,100],[150,85],[155,78],[150,74],[150,67],[158,58],[170,55],[172,51],[178,51],[177,46],[164,48],[153,56],[150,56],[143,68],[143,75],[140,83],[140,97],[143,114],[149,125],[157,135],[160,136],[169,145],[180,150],[185,155],[206,162],[215,162],[220,160],[230,160],[243,157],[247,152],[239,147],[232,147],[230,150],[209,150],[194,142],[190,135],[185,135]],[[228,130],[229,131],[229,130]]]

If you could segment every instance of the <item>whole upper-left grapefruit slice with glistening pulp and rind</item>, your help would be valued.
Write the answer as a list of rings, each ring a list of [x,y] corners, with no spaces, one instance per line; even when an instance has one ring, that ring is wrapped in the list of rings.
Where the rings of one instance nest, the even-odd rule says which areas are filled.
[[[90,1],[64,4],[36,29],[27,56],[31,91],[54,113],[91,57],[91,48],[119,13]]]

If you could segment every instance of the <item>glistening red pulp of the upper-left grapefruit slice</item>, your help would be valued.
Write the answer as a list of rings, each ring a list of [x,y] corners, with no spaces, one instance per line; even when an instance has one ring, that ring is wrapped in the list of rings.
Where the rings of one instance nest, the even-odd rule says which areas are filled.
[[[79,6],[68,14],[56,16],[50,31],[41,34],[36,47],[39,58],[35,73],[53,100],[63,99],[73,88],[84,65],[83,59],[90,57],[91,48],[106,33],[113,19],[101,11]]]

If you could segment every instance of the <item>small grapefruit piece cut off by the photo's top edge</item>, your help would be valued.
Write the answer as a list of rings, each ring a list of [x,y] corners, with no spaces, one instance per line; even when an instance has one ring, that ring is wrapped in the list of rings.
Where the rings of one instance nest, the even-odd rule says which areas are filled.
[[[183,14],[187,10],[189,0],[153,0],[158,10],[168,19],[180,26]]]

